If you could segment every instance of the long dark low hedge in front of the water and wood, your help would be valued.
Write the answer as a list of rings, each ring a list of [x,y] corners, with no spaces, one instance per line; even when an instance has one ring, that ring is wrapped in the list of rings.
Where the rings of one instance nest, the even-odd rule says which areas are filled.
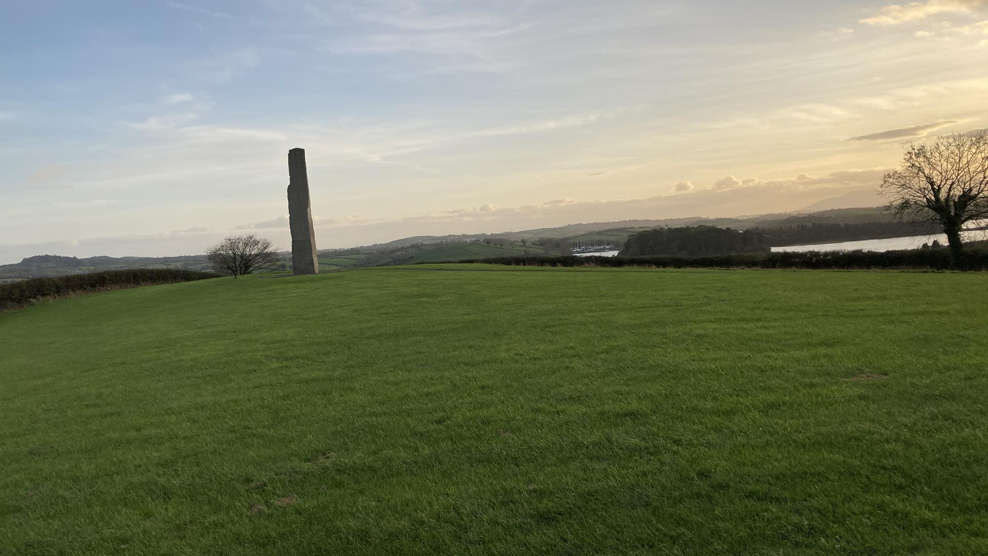
[[[988,270],[988,251],[969,250],[959,261],[947,249],[900,251],[802,251],[734,253],[708,256],[515,256],[487,258],[474,262],[522,266],[643,266],[658,268],[807,268],[807,269],[933,269]]]

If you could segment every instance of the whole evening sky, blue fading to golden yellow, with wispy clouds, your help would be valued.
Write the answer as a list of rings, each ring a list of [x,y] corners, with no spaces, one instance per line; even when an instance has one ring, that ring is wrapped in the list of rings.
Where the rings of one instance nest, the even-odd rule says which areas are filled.
[[[0,263],[796,211],[988,127],[988,0],[0,0]]]

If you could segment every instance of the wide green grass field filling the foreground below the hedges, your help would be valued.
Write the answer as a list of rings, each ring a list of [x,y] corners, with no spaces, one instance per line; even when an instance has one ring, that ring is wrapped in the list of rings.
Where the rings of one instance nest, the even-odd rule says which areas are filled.
[[[6,313],[0,546],[983,554],[986,290],[420,265]]]

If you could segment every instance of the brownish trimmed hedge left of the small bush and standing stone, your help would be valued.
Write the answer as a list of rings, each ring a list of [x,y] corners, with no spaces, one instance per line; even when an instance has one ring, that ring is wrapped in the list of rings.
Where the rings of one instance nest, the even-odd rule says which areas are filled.
[[[33,301],[58,298],[87,292],[133,288],[154,284],[173,284],[217,278],[218,274],[198,270],[171,268],[135,268],[106,270],[89,274],[70,274],[55,278],[31,278],[10,284],[0,284],[0,311],[18,309]]]

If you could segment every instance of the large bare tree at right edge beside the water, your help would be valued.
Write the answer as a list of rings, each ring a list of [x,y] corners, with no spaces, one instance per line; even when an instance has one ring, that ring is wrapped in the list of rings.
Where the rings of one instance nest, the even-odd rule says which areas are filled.
[[[956,258],[964,225],[988,219],[988,130],[910,144],[901,169],[885,174],[881,192],[900,220],[943,228]]]

